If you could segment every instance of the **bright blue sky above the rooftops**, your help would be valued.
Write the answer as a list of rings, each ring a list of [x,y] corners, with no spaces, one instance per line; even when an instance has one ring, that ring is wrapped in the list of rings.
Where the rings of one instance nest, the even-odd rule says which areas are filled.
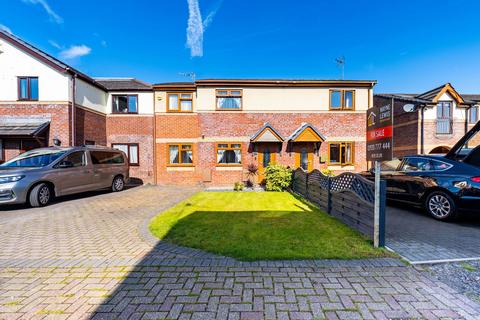
[[[91,76],[338,79],[344,56],[377,92],[480,93],[480,1],[0,1],[3,28]]]

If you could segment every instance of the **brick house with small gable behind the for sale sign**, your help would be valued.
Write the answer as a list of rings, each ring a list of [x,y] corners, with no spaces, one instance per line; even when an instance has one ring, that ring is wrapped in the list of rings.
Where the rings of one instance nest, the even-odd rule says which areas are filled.
[[[460,94],[450,83],[418,94],[379,93],[373,100],[394,105],[395,157],[446,153],[479,120],[480,95]]]

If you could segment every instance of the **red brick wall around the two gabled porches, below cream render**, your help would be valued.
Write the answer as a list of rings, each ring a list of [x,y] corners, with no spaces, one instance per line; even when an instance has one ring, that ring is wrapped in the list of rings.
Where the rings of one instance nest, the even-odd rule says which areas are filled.
[[[365,113],[200,113],[190,115],[157,115],[157,181],[166,184],[231,185],[245,181],[246,168],[250,163],[258,165],[258,154],[249,138],[265,122],[269,122],[286,139],[302,122],[314,125],[327,141],[322,143],[318,154],[314,154],[314,168],[326,168],[321,159],[327,158],[328,141],[355,141],[355,166],[337,167],[337,172],[345,170],[366,170],[365,161]],[[336,137],[336,138],[335,138]],[[238,139],[238,140],[236,140]],[[194,144],[194,166],[171,167],[167,165],[167,144],[184,142]],[[217,166],[215,144],[237,142],[242,144],[242,166]],[[279,151],[277,163],[295,167],[296,156],[303,145],[294,143],[287,146],[274,144]],[[313,148],[313,145],[308,144]],[[273,149],[273,148],[272,148]]]

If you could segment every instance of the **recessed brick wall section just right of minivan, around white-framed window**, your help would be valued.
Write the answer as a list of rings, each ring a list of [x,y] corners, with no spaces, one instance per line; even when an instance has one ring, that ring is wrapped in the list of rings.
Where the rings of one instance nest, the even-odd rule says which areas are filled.
[[[109,147],[112,143],[138,143],[140,164],[130,167],[130,176],[153,183],[153,116],[108,115],[106,134]]]

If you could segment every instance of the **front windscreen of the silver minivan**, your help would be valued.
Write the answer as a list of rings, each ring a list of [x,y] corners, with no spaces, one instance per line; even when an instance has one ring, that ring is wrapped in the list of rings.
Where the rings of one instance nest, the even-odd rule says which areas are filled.
[[[1,167],[7,168],[40,168],[45,167],[62,155],[64,155],[67,151],[65,150],[45,150],[45,149],[37,149],[32,151],[27,151],[22,153],[21,155],[9,160],[0,165]]]

